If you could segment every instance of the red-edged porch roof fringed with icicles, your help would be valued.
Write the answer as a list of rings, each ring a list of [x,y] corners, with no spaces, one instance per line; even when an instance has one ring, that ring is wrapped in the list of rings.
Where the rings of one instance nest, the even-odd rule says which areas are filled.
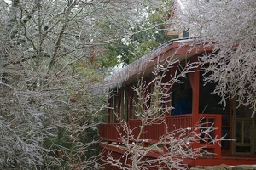
[[[197,47],[195,48],[195,46]],[[171,40],[145,54],[142,58],[137,59],[130,65],[125,66],[120,71],[106,77],[101,84],[104,88],[101,91],[106,92],[113,88],[119,88],[122,84],[132,82],[138,76],[154,71],[154,66],[162,63],[166,59],[178,59],[182,61],[207,50],[209,50],[209,47],[203,47],[198,39],[196,41],[189,38]]]

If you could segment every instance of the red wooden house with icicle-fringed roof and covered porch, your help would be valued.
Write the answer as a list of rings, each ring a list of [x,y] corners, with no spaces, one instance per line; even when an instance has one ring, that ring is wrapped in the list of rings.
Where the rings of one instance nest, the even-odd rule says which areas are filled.
[[[196,63],[202,53],[212,50],[211,48],[202,48],[199,45],[196,51],[191,51],[189,50],[191,49],[189,48],[190,43],[186,44],[187,40],[182,42],[184,42],[182,48],[179,48],[181,47],[179,41],[165,44],[162,48],[158,48],[152,54],[148,54],[148,56],[108,79],[108,82],[118,80],[118,85],[112,87],[112,93],[109,95],[108,123],[100,125],[100,147],[103,153],[111,152],[117,159],[121,159],[122,154],[125,153],[125,144],[120,139],[120,135],[125,133],[117,130],[122,127],[122,122],[133,129],[132,135],[134,138],[138,136],[141,122],[136,114],[138,98],[133,87],[137,86],[138,80],[141,79],[147,85],[152,82],[154,80],[154,75],[152,75],[154,66],[161,64],[160,61],[172,58],[175,54],[174,57],[180,59],[180,62],[165,71],[164,78],[161,80],[162,84],[167,84],[164,93],[168,96],[162,99],[164,101],[164,104],[161,105],[163,110],[157,116],[161,116],[161,121],[164,120],[164,122],[153,123],[144,127],[140,137],[142,149],[146,150],[150,144],[158,143],[160,138],[165,135],[166,130],[172,132],[178,128],[193,128],[204,124],[204,126],[216,128],[211,134],[213,138],[224,136],[225,139],[236,139],[236,142],[224,140],[221,144],[213,144],[211,140],[206,139],[193,143],[191,147],[201,147],[212,154],[196,157],[196,159],[183,160],[183,163],[191,167],[195,167],[195,165],[214,166],[223,163],[227,165],[256,164],[254,147],[256,144],[254,135],[256,120],[250,117],[251,112],[247,108],[237,109],[235,100],[227,101],[225,107],[224,105],[218,105],[221,99],[218,94],[212,94],[216,84],[208,83],[205,85],[203,73],[201,73],[203,68],[194,68],[188,74],[180,77],[172,87],[169,87],[168,84],[172,84],[172,77],[179,73],[178,66],[183,67],[187,63]],[[143,59],[144,62],[142,62]],[[135,69],[137,68],[136,65],[139,65],[138,67],[141,69]],[[154,90],[154,86],[148,85],[147,87],[145,92],[150,94]],[[179,99],[182,98],[190,103],[189,110],[175,111],[178,108]],[[150,108],[150,102],[148,100],[145,103],[146,108]],[[165,108],[171,108],[172,106],[175,107],[174,110],[165,110]],[[183,109],[183,107],[181,108]],[[134,142],[133,139],[129,140],[131,144]],[[159,147],[158,150],[148,152],[147,156],[157,158],[160,153],[165,151],[164,147]]]

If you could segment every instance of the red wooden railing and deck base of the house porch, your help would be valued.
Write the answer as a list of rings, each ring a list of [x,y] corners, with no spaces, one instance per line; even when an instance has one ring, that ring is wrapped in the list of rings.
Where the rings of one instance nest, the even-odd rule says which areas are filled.
[[[173,131],[177,128],[193,127],[191,114],[186,114],[182,116],[165,116],[165,122],[168,130]],[[205,120],[208,123],[207,126],[218,127],[214,133],[213,137],[221,136],[221,120],[222,116],[219,114],[201,114],[201,120]],[[214,123],[214,124],[212,124]],[[111,154],[117,158],[121,158],[125,153],[125,144],[122,144],[120,140],[122,133],[118,131],[120,129],[121,123],[106,123],[100,125],[100,148],[103,153],[105,151],[112,151]],[[136,137],[138,135],[137,127],[140,125],[140,121],[133,119],[128,122],[129,127],[134,128],[133,135]],[[145,144],[141,144],[143,150],[147,150],[150,144],[155,144],[159,142],[160,138],[166,132],[165,126],[161,123],[153,123],[152,125],[145,127],[141,139],[147,139]],[[146,141],[146,140],[145,140]],[[232,143],[233,141],[229,141]],[[132,144],[132,141],[131,141]],[[184,159],[183,163],[189,165],[189,167],[195,166],[216,166],[220,164],[226,165],[251,165],[256,163],[256,156],[252,154],[232,154],[227,150],[222,150],[221,145],[218,143],[212,144],[211,141],[200,142],[199,144],[191,144],[191,147],[201,147],[204,150],[211,152],[210,155],[204,155],[196,157],[195,159]],[[148,152],[148,157],[157,158],[162,152],[165,152],[164,147],[158,147],[158,149]]]

